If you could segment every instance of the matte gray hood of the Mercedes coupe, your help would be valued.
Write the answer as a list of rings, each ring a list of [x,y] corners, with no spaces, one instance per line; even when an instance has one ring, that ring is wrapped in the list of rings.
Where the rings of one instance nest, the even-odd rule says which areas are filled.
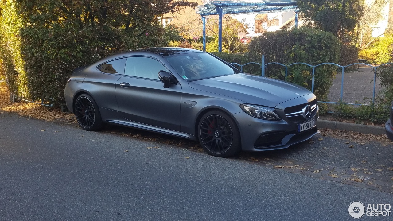
[[[232,74],[190,81],[189,86],[196,90],[235,98],[244,103],[268,107],[275,107],[290,99],[312,94],[299,85],[248,74]]]

